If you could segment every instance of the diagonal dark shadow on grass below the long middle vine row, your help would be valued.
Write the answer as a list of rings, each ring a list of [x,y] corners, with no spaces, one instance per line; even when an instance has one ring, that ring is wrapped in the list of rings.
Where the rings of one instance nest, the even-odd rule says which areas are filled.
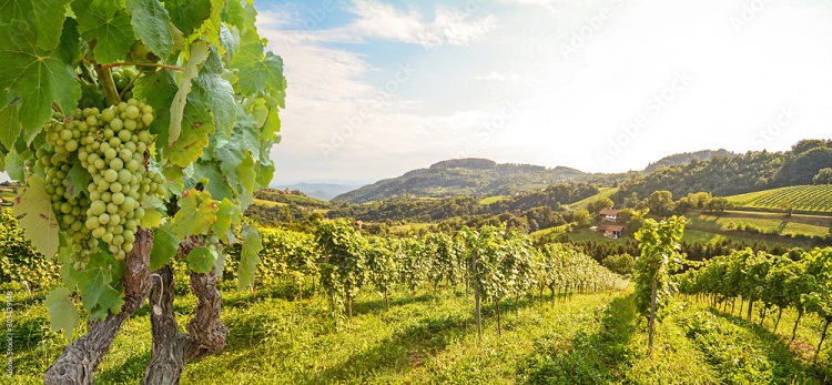
[[[424,318],[304,383],[355,382],[375,374],[406,373],[418,367],[424,359],[446,349],[454,341],[476,333],[475,330],[474,320],[469,315]]]

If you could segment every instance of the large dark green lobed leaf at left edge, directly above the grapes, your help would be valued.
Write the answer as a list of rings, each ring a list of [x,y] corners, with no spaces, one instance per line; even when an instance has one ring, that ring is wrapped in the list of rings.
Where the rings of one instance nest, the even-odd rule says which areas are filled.
[[[53,54],[35,47],[23,21],[0,26],[0,89],[21,99],[19,122],[27,144],[52,116],[53,101],[62,111],[74,111],[81,98],[74,71]]]

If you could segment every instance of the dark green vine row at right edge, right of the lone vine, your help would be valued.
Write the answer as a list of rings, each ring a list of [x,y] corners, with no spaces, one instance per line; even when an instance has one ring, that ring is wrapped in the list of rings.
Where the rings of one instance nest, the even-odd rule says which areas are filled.
[[[748,303],[749,320],[754,304],[761,303],[761,326],[767,314],[777,310],[774,332],[783,310],[794,308],[798,318],[792,341],[803,315],[814,313],[825,322],[816,357],[832,323],[832,247],[806,251],[797,262],[788,256],[754,253],[751,249],[735,251],[680,275],[679,290],[686,294],[706,295],[713,306],[721,304],[726,311],[730,303],[731,313],[739,298],[740,314],[744,302]]]

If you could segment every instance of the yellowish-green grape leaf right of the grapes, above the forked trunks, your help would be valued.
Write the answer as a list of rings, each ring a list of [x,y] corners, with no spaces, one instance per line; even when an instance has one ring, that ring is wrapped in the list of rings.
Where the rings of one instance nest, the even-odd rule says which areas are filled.
[[[190,235],[207,234],[211,224],[216,222],[217,210],[211,193],[187,190],[179,200],[179,211],[173,215],[171,230],[180,240]]]

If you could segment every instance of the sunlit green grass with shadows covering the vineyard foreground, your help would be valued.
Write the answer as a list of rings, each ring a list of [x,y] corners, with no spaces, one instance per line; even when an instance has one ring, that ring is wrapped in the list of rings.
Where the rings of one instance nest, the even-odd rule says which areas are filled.
[[[194,300],[184,284],[175,302],[180,322]],[[49,331],[42,294],[29,300],[12,287],[14,384],[40,383],[65,346]],[[334,327],[323,295],[295,301],[287,291],[223,290],[227,345],[189,363],[183,384],[820,384],[829,366],[784,347],[780,336],[691,300],[674,300],[658,324],[656,348],[646,352],[645,320],[630,292],[569,300],[506,301],[503,336],[494,307],[484,308],[477,344],[473,300],[460,290],[398,293],[389,311],[376,294],[355,303],[355,318]],[[787,323],[784,315],[783,325]],[[703,326],[704,325],[704,326]],[[819,322],[799,340],[816,344]],[[769,326],[769,328],[771,328]],[[781,325],[781,332],[790,327]],[[81,333],[75,331],[74,337]],[[804,343],[805,344],[805,343]],[[741,349],[737,351],[735,346]],[[124,325],[97,373],[97,383],[135,384],[150,361],[148,307]],[[741,354],[742,365],[724,357]],[[757,372],[750,372],[751,369]],[[759,378],[749,373],[762,373]],[[772,376],[788,374],[783,382]],[[743,381],[733,381],[739,378]],[[773,378],[773,379],[772,379]]]

